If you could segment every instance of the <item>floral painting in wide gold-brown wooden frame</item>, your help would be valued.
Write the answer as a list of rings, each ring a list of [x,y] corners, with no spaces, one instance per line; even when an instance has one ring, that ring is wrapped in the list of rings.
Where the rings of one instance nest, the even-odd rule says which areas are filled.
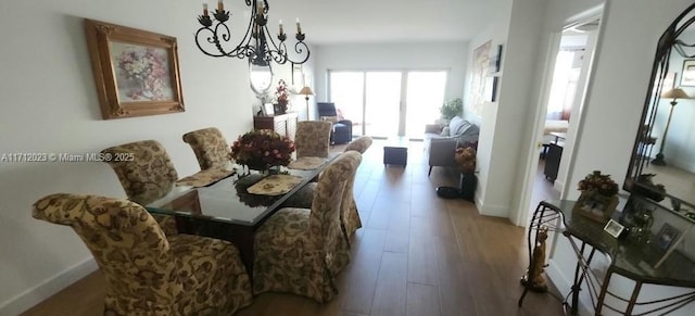
[[[184,112],[176,38],[85,20],[104,119]]]

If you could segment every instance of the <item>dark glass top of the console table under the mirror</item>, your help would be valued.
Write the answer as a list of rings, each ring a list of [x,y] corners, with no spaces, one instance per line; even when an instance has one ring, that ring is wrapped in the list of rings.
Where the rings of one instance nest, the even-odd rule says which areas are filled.
[[[601,223],[573,214],[576,201],[554,200],[541,203],[560,214],[565,233],[608,255],[611,268],[618,274],[647,283],[695,288],[695,263],[678,251],[671,253],[659,268],[654,268],[665,254],[654,243],[614,238],[604,231]]]

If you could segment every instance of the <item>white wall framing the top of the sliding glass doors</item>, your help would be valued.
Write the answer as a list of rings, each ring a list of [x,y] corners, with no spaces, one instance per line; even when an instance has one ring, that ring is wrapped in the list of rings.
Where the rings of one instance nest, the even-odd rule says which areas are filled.
[[[329,45],[316,49],[316,100],[329,101],[327,72],[331,71],[448,71],[444,100],[460,98],[468,61],[466,42]]]

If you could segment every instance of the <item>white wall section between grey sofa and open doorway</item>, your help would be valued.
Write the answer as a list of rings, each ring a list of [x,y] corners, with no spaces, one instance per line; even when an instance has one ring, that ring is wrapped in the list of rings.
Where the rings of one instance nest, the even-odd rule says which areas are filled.
[[[547,0],[514,1],[500,10],[500,23],[493,24],[493,45],[504,45],[497,102],[483,106],[478,144],[480,164],[477,205],[481,214],[511,217],[514,201],[519,199],[518,180],[522,175],[525,153],[529,150],[530,127],[527,121],[535,109],[534,91],[539,83],[530,80],[544,51],[542,29]],[[503,21],[508,21],[506,24]],[[479,42],[484,42],[481,38]],[[473,42],[476,45],[476,42]],[[471,46],[471,50],[473,46]],[[494,123],[493,123],[494,122]]]

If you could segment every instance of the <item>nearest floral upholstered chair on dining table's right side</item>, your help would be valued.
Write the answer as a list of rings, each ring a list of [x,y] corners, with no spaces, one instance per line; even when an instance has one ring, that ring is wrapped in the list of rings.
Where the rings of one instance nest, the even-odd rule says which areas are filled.
[[[319,303],[338,292],[336,276],[350,262],[340,226],[341,197],[362,161],[341,154],[321,173],[312,208],[285,207],[255,235],[254,293],[291,292]]]

